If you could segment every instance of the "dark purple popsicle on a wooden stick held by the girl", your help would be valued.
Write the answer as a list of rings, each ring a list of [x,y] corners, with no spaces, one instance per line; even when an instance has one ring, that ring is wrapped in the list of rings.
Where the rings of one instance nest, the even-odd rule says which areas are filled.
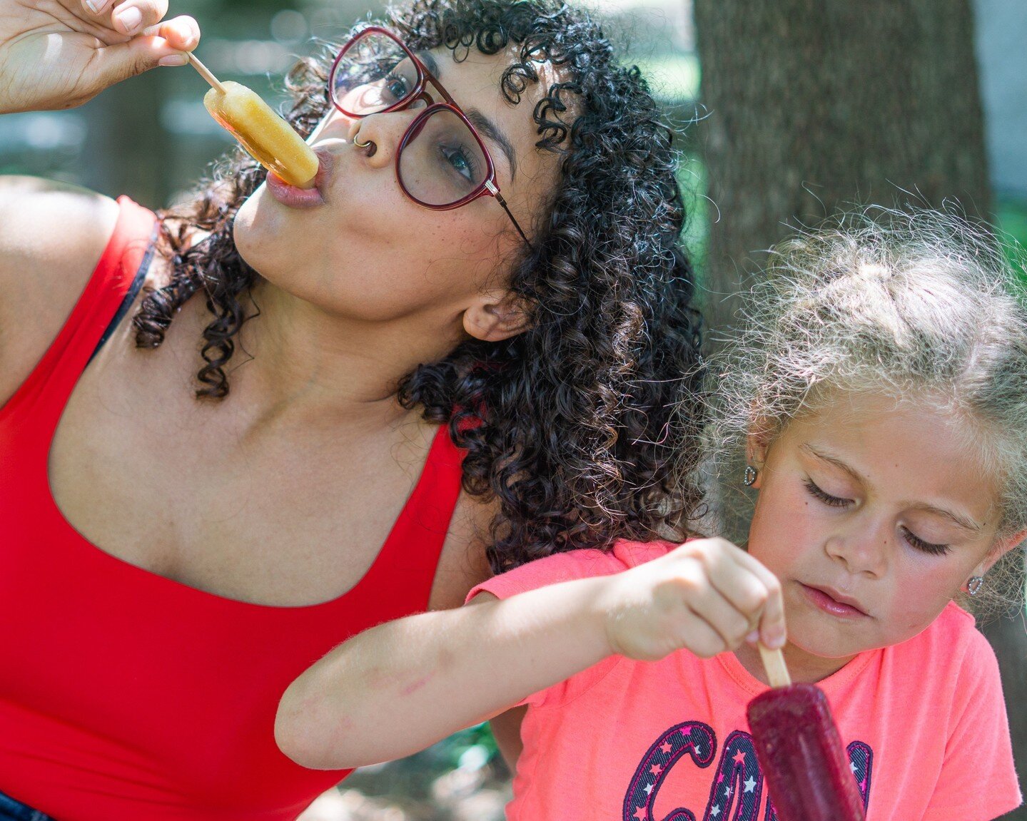
[[[768,674],[769,653],[763,659]],[[785,670],[781,651],[776,654],[773,665]],[[824,692],[813,685],[790,683],[787,670],[784,675],[784,686],[770,675],[774,687],[747,709],[778,821],[865,821],[863,798]]]

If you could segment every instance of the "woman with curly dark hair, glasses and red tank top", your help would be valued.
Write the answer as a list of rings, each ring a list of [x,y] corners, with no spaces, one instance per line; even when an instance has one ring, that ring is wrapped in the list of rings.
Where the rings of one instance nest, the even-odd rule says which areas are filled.
[[[181,65],[198,30],[165,11],[0,1],[0,111]],[[366,39],[330,92],[331,60],[291,76],[312,193],[245,157],[156,221],[2,186],[15,817],[295,818],[345,772],[289,761],[275,705],[332,647],[555,550],[683,536],[698,317],[644,83],[549,0],[418,2],[380,36],[387,105],[348,96]]]

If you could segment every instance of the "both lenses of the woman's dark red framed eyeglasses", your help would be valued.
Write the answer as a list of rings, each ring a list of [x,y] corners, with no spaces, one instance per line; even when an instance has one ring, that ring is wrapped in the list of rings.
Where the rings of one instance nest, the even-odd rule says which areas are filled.
[[[352,41],[331,79],[335,103],[346,114],[364,117],[411,100],[417,69],[397,42],[369,32]],[[415,200],[452,205],[480,188],[489,174],[481,144],[453,111],[421,115],[400,149],[400,183]]]

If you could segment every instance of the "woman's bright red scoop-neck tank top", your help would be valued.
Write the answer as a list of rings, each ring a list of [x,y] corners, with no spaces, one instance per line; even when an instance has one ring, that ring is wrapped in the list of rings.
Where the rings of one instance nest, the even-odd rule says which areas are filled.
[[[278,751],[278,698],[340,641],[427,608],[462,452],[443,426],[374,564],[321,604],[223,598],[87,542],[50,496],[47,458],[150,242],[154,214],[118,202],[67,324],[0,407],[0,790],[61,821],[295,819],[348,771]]]

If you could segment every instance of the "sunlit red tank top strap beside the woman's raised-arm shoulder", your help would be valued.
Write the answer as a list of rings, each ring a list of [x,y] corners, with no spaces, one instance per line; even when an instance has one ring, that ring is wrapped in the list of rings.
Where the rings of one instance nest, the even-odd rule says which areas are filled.
[[[125,196],[118,218],[85,289],[42,359],[0,408],[0,418],[22,417],[41,433],[52,434],[61,414],[98,343],[136,279],[156,239],[156,216]]]

